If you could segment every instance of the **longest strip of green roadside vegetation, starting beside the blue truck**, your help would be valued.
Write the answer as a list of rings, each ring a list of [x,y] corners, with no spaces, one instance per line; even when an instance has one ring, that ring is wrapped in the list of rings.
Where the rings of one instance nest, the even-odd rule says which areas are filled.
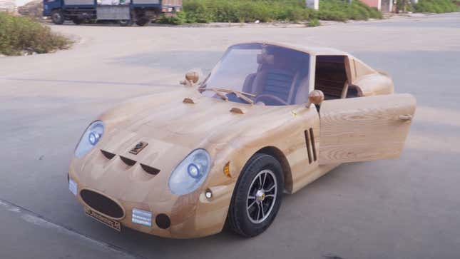
[[[305,7],[305,0],[183,0],[183,11],[177,17],[162,17],[163,24],[210,22],[332,21],[382,19],[377,9],[359,0],[320,0],[320,10]]]

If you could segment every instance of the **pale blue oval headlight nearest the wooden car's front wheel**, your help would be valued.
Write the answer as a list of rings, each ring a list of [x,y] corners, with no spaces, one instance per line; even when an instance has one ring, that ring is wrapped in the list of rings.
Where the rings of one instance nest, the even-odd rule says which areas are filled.
[[[170,190],[178,195],[195,191],[208,176],[210,156],[204,149],[196,149],[174,169],[169,178]]]

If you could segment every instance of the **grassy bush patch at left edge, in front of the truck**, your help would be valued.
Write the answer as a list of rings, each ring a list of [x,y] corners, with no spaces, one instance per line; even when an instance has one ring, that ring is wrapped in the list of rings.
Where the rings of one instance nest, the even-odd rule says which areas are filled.
[[[0,54],[48,53],[68,49],[71,41],[33,19],[0,12]]]

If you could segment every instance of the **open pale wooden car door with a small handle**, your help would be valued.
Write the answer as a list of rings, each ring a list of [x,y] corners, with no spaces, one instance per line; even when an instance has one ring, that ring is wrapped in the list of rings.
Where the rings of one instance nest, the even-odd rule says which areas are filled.
[[[415,107],[410,94],[323,101],[320,165],[397,158]]]

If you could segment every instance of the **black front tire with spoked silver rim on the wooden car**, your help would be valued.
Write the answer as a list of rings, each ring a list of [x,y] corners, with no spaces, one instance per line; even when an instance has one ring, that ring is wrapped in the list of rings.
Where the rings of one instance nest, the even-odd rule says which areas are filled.
[[[270,155],[256,153],[247,161],[233,191],[228,227],[246,238],[267,230],[280,210],[284,186],[280,162]]]

